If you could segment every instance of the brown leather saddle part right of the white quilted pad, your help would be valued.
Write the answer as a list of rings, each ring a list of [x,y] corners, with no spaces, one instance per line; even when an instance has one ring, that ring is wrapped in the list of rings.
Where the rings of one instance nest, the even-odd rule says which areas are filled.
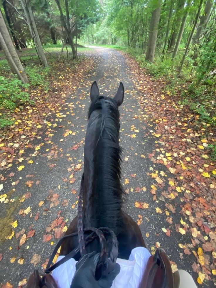
[[[174,288],[173,272],[163,249],[149,258],[139,288]]]

